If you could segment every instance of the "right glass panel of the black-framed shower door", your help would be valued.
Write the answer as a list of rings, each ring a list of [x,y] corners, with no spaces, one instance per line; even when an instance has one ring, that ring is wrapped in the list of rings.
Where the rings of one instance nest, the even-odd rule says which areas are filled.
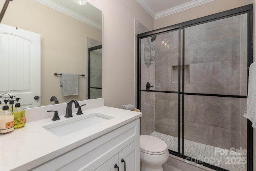
[[[246,171],[247,14],[184,30],[184,155]]]

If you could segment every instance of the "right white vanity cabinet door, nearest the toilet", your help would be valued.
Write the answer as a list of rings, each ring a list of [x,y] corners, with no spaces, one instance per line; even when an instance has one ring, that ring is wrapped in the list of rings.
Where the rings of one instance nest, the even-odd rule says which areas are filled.
[[[140,170],[140,139],[119,152],[119,171],[139,171]]]

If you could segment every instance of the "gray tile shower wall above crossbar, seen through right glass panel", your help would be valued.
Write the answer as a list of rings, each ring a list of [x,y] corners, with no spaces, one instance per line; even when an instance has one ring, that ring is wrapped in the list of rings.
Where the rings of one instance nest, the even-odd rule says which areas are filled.
[[[247,59],[240,55],[242,38],[240,16],[185,28],[185,64],[190,66],[185,91],[246,95],[240,86],[240,77],[247,78],[246,72],[240,73],[240,61]]]

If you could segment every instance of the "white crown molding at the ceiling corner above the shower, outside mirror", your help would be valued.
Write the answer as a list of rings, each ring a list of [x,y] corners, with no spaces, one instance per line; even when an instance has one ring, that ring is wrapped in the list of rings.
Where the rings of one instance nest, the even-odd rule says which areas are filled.
[[[154,10],[152,9],[152,7],[148,4],[148,2],[146,2],[146,0],[137,0],[139,2],[139,4],[154,18],[154,19],[158,19],[158,18],[162,18],[164,16],[168,16],[170,14],[174,14],[176,12],[180,12],[183,10],[187,10],[189,8],[193,8],[195,6],[198,5],[202,5],[214,0],[192,0],[190,2],[187,2],[185,4],[181,4],[179,6],[170,8],[168,10],[164,10],[162,12],[158,12],[155,13]]]

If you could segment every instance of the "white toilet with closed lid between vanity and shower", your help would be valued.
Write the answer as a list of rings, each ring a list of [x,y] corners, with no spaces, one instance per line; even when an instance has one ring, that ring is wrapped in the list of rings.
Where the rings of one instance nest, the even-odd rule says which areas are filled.
[[[169,157],[167,144],[157,137],[140,135],[141,171],[163,171]]]

